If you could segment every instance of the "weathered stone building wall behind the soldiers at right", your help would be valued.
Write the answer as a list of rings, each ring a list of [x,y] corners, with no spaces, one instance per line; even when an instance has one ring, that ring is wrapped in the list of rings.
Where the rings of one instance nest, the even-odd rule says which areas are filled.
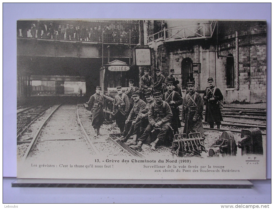
[[[227,22],[229,24],[229,22]],[[239,26],[242,26],[239,28]],[[222,24],[225,27],[225,24]],[[237,28],[238,27],[238,28]],[[237,50],[235,30],[238,31],[239,61],[236,62]],[[181,65],[184,58],[190,58],[198,63],[200,58],[201,73],[193,74],[196,90],[207,87],[207,78],[216,81],[224,95],[224,102],[266,102],[266,24],[264,22],[240,23],[222,31],[219,35],[219,58],[216,37],[207,40],[185,40],[158,43],[155,47],[157,67],[164,76],[169,75],[171,68],[175,69],[181,86]],[[156,46],[156,45],[155,45]],[[199,49],[199,50],[198,50]],[[197,54],[199,53],[199,54]],[[226,78],[227,58],[234,58],[234,88],[228,88]],[[200,56],[199,56],[200,55]],[[237,64],[239,68],[239,90],[237,90]],[[200,78],[199,78],[200,77]],[[200,79],[200,88],[198,86]],[[185,90],[182,90],[183,94]]]

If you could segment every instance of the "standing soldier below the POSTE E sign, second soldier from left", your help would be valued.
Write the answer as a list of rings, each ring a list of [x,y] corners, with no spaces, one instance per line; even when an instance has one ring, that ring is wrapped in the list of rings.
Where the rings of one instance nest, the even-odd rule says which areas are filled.
[[[119,127],[121,133],[124,132],[124,125],[129,113],[129,98],[127,94],[122,92],[122,87],[117,86],[118,94],[114,97],[113,101],[113,115],[116,125]]]

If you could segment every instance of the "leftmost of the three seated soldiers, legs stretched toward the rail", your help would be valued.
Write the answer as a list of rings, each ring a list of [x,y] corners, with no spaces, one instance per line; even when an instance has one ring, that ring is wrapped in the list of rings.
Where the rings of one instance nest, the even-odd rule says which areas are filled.
[[[140,127],[135,126],[135,124],[139,121],[139,114],[141,113],[141,111],[145,109],[146,104],[143,100],[140,99],[139,92],[134,92],[132,94],[132,97],[134,100],[134,105],[129,113],[127,120],[125,121],[126,125],[124,128],[125,130],[124,134],[118,139],[121,142],[126,142],[132,134],[133,134],[133,141],[136,142],[137,134],[140,131]],[[133,144],[137,144],[137,143],[133,143]],[[130,145],[133,145],[133,144],[130,144]]]

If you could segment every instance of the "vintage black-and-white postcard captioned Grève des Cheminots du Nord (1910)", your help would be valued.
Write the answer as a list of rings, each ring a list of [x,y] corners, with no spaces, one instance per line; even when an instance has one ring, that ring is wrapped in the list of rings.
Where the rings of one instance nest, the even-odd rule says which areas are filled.
[[[266,178],[266,21],[17,21],[17,177]]]

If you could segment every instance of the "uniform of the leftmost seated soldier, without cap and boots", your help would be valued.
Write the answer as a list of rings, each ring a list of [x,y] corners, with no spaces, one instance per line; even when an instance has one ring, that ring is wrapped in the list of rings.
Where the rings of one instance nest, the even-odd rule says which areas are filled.
[[[124,127],[124,134],[123,136],[126,138],[129,138],[132,134],[137,134],[137,132],[139,132],[139,130],[136,130],[138,128],[138,126],[135,127],[135,124],[137,122],[139,122],[139,117],[137,117],[139,115],[139,113],[141,113],[144,109],[145,109],[145,102],[141,99],[139,99],[137,102],[134,103],[133,108],[131,109],[129,116],[128,116],[128,120],[133,120],[135,119],[135,123],[132,125],[132,121],[128,122],[125,127]]]

